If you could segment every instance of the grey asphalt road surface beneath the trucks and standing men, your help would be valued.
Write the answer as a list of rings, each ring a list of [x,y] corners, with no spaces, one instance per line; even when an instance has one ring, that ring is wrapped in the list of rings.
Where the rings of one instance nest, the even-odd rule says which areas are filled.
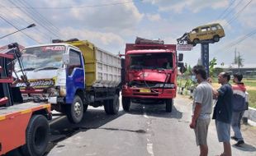
[[[51,142],[47,156],[187,156],[199,155],[194,132],[189,128],[192,101],[178,95],[173,112],[164,105],[133,103],[130,112],[106,115],[103,108],[88,108],[83,122],[70,124],[66,117],[56,116],[50,122]],[[208,155],[221,154],[215,121],[208,133]],[[243,126],[246,145],[232,146],[235,156],[256,155],[255,126]],[[235,144],[231,140],[231,144]],[[9,154],[11,155],[11,154]],[[16,155],[16,154],[15,154]]]

